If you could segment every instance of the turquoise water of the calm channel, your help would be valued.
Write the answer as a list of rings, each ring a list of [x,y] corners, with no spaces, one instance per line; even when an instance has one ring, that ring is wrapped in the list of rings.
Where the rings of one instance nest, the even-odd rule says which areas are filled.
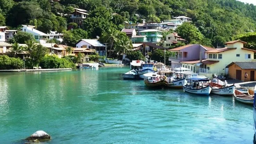
[[[0,73],[0,143],[37,130],[51,144],[252,144],[252,106],[232,97],[150,90],[128,67]]]

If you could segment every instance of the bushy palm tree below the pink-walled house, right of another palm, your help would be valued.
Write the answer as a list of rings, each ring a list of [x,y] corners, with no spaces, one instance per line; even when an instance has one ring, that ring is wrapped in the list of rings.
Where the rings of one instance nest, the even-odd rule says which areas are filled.
[[[122,54],[123,57],[127,53],[128,50],[132,48],[131,41],[128,37],[123,38],[123,39],[118,39],[117,44],[116,44],[116,50],[118,51],[119,54]]]

